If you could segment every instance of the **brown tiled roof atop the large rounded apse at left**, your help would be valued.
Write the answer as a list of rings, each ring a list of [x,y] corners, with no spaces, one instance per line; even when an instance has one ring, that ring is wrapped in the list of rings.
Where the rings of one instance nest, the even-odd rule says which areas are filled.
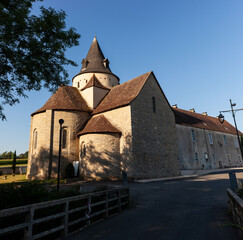
[[[58,90],[48,99],[43,107],[32,113],[44,112],[46,110],[77,110],[92,112],[88,107],[85,100],[82,98],[76,87],[61,86]]]

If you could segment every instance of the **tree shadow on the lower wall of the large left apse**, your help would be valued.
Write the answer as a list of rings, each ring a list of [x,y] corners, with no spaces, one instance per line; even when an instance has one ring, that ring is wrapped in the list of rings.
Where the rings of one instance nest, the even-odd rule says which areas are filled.
[[[58,171],[58,153],[52,155],[50,162],[50,152],[44,148],[33,154],[29,159],[27,178],[29,179],[47,179],[57,178]],[[72,162],[65,156],[61,156],[60,176],[65,177],[65,170],[68,163]]]

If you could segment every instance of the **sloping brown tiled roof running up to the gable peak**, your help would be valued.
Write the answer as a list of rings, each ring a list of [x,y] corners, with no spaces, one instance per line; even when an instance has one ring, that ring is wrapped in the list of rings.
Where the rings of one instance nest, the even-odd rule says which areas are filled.
[[[145,73],[128,82],[113,87],[92,114],[126,106],[137,97],[152,72]]]

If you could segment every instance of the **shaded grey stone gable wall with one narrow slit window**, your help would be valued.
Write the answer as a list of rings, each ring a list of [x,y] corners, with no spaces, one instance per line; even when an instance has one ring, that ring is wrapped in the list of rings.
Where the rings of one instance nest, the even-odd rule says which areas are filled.
[[[176,127],[157,80],[151,74],[131,104],[133,178],[180,175]]]

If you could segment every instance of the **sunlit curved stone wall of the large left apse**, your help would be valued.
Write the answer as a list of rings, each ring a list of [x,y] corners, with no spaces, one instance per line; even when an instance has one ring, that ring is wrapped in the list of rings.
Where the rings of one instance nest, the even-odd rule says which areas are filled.
[[[64,120],[67,145],[62,149],[61,174],[69,162],[78,161],[78,138],[76,134],[89,119],[89,113],[81,111],[47,110],[32,117],[27,177],[48,178],[57,176],[59,155],[59,119]],[[37,131],[37,147],[34,148],[33,133]]]

